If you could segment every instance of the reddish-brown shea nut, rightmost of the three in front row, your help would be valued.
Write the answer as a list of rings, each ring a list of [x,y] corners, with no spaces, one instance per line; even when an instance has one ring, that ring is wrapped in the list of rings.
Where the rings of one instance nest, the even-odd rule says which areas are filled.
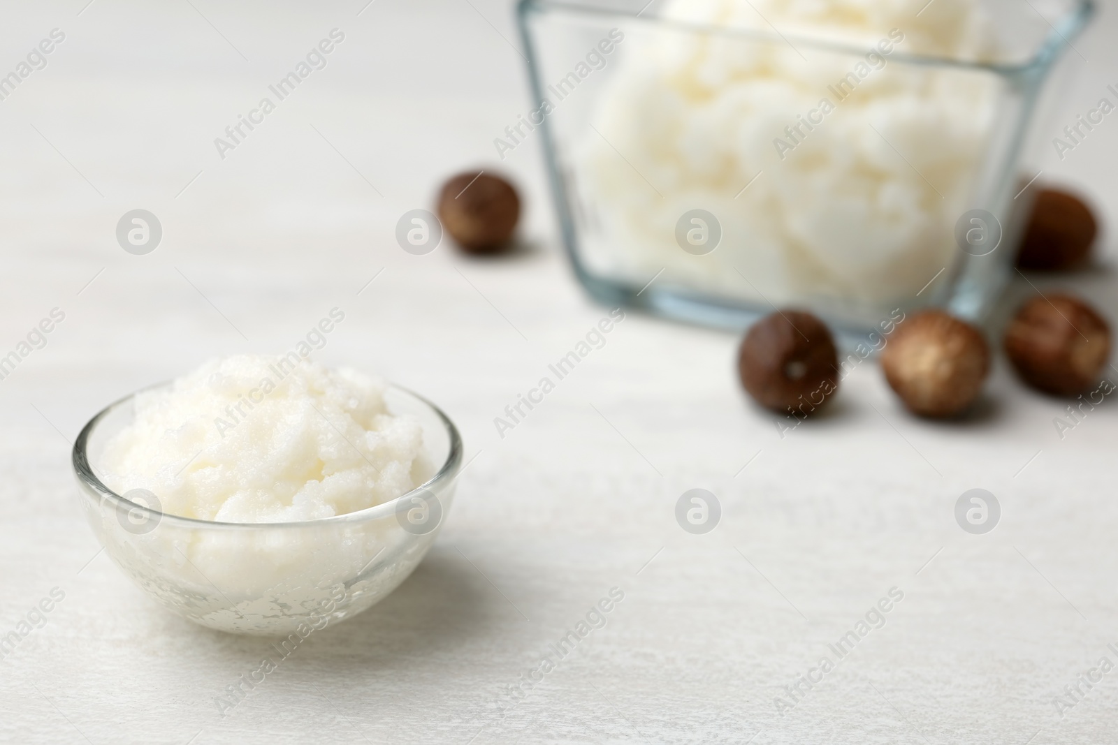
[[[1069,295],[1034,297],[1006,329],[1005,353],[1033,388],[1076,395],[1099,382],[1110,359],[1110,326]]]

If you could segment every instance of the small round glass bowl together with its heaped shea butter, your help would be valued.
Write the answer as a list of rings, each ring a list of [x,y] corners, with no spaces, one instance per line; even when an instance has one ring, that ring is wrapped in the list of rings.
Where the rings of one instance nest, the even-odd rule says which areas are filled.
[[[94,533],[149,595],[212,629],[301,638],[415,570],[461,464],[419,395],[248,355],[113,403],[73,452]]]

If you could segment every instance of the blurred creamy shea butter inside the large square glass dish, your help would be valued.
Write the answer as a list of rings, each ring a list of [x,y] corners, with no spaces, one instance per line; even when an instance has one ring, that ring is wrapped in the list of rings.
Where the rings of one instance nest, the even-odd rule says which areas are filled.
[[[937,0],[920,17],[913,8],[673,0],[662,13],[693,27],[775,27],[850,52],[626,29],[596,131],[575,143],[589,266],[638,286],[666,269],[665,279],[705,293],[869,317],[912,302],[960,254],[954,228],[974,207],[998,99],[992,75],[898,59],[989,58],[996,35],[978,7]],[[707,256],[676,243],[676,222],[694,209],[721,225]]]

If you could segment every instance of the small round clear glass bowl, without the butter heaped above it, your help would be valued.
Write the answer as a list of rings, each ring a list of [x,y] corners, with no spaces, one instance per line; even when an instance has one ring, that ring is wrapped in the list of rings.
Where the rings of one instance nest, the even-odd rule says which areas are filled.
[[[407,579],[454,498],[462,467],[454,423],[405,389],[389,385],[385,398],[392,413],[419,420],[427,462],[436,466],[430,479],[397,499],[303,523],[217,523],[126,499],[97,470],[105,442],[132,421],[133,393],[89,420],[74,443],[86,518],[124,573],[179,615],[231,633],[306,638]]]

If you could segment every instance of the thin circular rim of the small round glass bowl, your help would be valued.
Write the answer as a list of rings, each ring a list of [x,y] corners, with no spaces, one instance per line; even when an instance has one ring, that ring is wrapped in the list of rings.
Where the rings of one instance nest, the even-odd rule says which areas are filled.
[[[366,507],[364,509],[358,509],[352,513],[344,513],[342,515],[333,515],[332,517],[322,517],[312,520],[300,520],[294,523],[225,523],[218,520],[206,520],[198,517],[184,517],[182,515],[172,515],[171,513],[162,513],[157,509],[151,509],[143,505],[138,505],[130,499],[125,499],[123,496],[116,494],[107,486],[105,486],[97,475],[93,471],[93,467],[89,465],[87,448],[89,437],[93,431],[97,428],[101,421],[107,417],[110,413],[130,403],[135,399],[136,395],[145,391],[151,391],[159,388],[165,388],[171,384],[171,381],[163,381],[160,383],[154,383],[145,388],[141,388],[127,395],[113,401],[104,409],[94,414],[93,419],[86,422],[82,431],[78,432],[77,438],[74,440],[74,448],[70,451],[70,467],[74,470],[74,475],[78,480],[78,484],[83,487],[82,493],[85,497],[94,499],[94,494],[100,495],[102,500],[107,499],[113,503],[115,507],[124,510],[141,510],[144,515],[152,516],[152,519],[159,520],[161,525],[163,520],[170,520],[172,524],[179,524],[181,527],[199,529],[199,528],[212,528],[212,529],[224,529],[224,531],[236,531],[236,529],[252,529],[252,531],[265,531],[273,528],[309,528],[318,526],[338,525],[341,523],[362,523],[370,519],[381,519],[396,512],[397,505],[401,499],[406,499],[419,491],[433,491],[436,487],[449,484],[458,475],[458,467],[462,465],[462,436],[458,433],[458,429],[454,426],[446,413],[432,403],[426,398],[419,395],[415,391],[404,388],[402,385],[397,385],[396,383],[388,383],[387,388],[390,390],[399,391],[406,395],[410,395],[416,399],[425,407],[430,409],[438,420],[442,422],[446,434],[449,439],[449,452],[446,456],[446,460],[439,467],[439,469],[429,479],[417,486],[416,488],[401,494],[400,496],[383,502],[379,505],[373,505],[372,507]]]

